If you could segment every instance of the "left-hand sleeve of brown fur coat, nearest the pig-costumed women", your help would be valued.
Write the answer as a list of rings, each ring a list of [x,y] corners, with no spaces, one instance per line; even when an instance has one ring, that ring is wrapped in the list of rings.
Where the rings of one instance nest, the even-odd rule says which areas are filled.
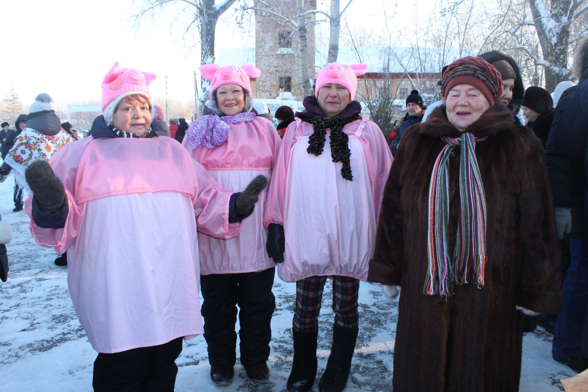
[[[402,277],[403,217],[400,205],[400,172],[403,150],[406,148],[400,148],[396,153],[384,188],[377,225],[376,248],[369,263],[369,282],[400,284]]]

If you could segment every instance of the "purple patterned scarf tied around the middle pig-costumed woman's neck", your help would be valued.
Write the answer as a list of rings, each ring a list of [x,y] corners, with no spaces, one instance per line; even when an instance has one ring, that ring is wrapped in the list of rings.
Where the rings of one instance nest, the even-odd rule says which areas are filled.
[[[255,113],[252,112],[223,117],[217,115],[202,116],[192,121],[188,130],[186,130],[186,138],[188,138],[192,151],[201,145],[212,150],[223,145],[229,138],[229,124],[242,121],[249,122],[253,121],[254,118]]]

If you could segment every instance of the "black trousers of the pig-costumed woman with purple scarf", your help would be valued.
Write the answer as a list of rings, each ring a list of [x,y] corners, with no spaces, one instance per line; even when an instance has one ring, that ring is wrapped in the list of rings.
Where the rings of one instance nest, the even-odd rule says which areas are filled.
[[[274,275],[275,267],[260,272],[201,275],[204,339],[211,365],[236,362],[236,305],[241,363],[251,365],[268,360],[270,323],[276,307],[272,293]]]

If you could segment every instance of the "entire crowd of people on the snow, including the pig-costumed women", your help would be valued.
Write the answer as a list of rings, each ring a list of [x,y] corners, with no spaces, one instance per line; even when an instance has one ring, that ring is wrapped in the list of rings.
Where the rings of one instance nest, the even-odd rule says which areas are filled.
[[[554,95],[525,90],[503,53],[456,59],[442,99],[412,91],[387,140],[355,100],[365,64],[325,65],[304,110],[273,116],[252,97],[258,68],[202,65],[211,92],[188,124],[153,105],[156,75],[115,63],[87,137],[44,93],[14,130],[2,124],[0,180],[14,175],[14,211],[68,268],[95,391],[172,391],[198,334],[212,383],[232,383],[238,352],[250,380],[268,380],[276,267],[296,283],[288,391],[315,384],[329,278],[320,391],[350,376],[360,282],[402,292],[390,390],[516,391],[537,321],[554,360],[588,365],[588,38],[574,56],[579,83]],[[0,217],[3,281],[10,239]]]

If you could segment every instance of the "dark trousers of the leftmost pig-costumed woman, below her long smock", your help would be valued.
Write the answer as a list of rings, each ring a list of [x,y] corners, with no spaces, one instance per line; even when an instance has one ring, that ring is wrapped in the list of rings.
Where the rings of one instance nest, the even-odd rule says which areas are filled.
[[[140,347],[120,353],[98,353],[94,361],[94,391],[173,391],[182,352],[182,337],[159,346]]]

